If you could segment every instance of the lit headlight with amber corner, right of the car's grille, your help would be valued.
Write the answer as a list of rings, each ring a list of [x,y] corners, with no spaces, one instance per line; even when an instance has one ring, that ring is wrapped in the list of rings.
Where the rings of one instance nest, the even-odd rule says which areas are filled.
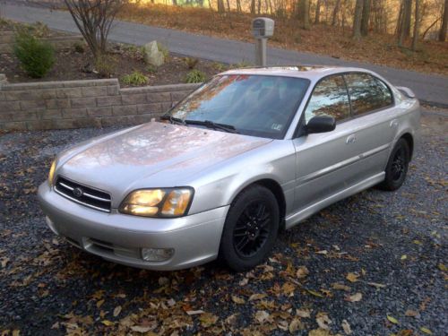
[[[193,199],[193,188],[142,189],[128,194],[119,211],[145,217],[184,216]]]

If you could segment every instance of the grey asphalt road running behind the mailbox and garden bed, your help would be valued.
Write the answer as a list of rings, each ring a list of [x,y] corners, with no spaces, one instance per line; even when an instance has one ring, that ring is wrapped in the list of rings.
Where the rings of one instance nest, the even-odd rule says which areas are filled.
[[[18,22],[44,22],[49,28],[79,32],[69,13],[19,4],[4,4],[3,13]],[[143,45],[157,39],[175,54],[200,57],[224,63],[253,62],[254,45],[229,39],[211,38],[180,30],[169,30],[132,22],[115,22],[110,39],[116,42]],[[419,99],[448,107],[448,77],[429,75],[386,66],[343,61],[329,56],[299,53],[276,47],[268,49],[270,65],[349,65],[371,69],[382,74],[393,84],[414,90]]]

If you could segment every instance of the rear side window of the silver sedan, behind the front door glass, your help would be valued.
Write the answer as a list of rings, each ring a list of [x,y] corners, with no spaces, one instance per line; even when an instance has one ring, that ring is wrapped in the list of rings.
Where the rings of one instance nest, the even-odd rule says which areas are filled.
[[[392,92],[379,79],[367,73],[344,74],[354,116],[392,105]]]

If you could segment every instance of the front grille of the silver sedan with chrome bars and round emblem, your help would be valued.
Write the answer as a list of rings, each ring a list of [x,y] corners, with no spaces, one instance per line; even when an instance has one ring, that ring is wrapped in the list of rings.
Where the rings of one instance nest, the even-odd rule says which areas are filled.
[[[95,210],[110,212],[110,194],[90,188],[90,186],[80,185],[64,177],[58,177],[55,191],[73,202]]]

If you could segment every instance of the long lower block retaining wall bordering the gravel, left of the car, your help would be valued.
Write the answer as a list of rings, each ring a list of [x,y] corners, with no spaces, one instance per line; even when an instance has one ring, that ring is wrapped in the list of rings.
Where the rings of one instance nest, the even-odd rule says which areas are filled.
[[[45,130],[135,125],[158,117],[198,84],[121,89],[118,80],[2,82],[0,129]]]

